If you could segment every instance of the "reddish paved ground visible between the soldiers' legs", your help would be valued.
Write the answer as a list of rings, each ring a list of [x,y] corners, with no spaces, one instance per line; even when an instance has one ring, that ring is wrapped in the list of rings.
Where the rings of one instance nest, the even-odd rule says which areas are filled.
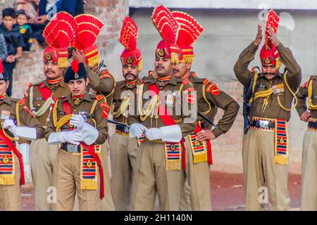
[[[299,210],[301,175],[290,174],[288,188],[292,210]],[[23,210],[34,210],[32,185],[23,188]],[[245,210],[242,174],[211,173],[213,210]]]

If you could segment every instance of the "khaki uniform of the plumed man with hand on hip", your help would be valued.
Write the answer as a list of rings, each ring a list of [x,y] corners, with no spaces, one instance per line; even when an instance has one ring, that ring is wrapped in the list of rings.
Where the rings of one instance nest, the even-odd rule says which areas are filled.
[[[220,91],[216,84],[209,82],[208,79],[197,77],[196,73],[192,73],[189,77],[189,81],[194,85],[194,88],[197,91],[197,107],[199,113],[202,113],[202,115],[213,121],[213,118],[217,113],[217,108],[222,108],[225,111],[223,117],[218,122],[218,129],[213,129],[211,124],[204,121],[201,117],[197,118],[199,119],[199,123],[204,121],[204,124],[208,129],[213,129],[213,134],[216,137],[227,132],[237,116],[239,110],[238,103],[224,91]],[[207,141],[204,142],[206,149]],[[189,201],[187,200],[187,202],[190,203],[190,205],[187,206],[187,209],[211,210],[209,162],[203,160],[203,162],[194,163],[192,148],[195,148],[195,145],[192,144],[192,142],[186,142],[185,146],[185,174],[189,184]],[[184,203],[183,200],[182,203]],[[186,209],[186,207],[183,209]]]

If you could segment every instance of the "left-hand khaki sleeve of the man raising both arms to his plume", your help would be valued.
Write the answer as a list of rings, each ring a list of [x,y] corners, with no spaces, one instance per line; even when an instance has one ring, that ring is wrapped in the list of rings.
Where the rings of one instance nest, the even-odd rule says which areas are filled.
[[[250,80],[254,77],[254,72],[249,71],[248,66],[251,60],[254,60],[258,48],[259,46],[256,46],[252,41],[252,43],[240,53],[240,56],[235,63],[235,67],[233,68],[238,81],[244,86],[248,85]]]

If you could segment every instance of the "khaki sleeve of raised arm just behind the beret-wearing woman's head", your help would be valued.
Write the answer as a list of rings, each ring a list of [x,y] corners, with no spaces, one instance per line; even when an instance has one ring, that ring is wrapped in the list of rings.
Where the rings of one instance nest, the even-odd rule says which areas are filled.
[[[100,91],[101,93],[109,93],[113,91],[116,86],[116,81],[113,75],[109,74],[109,77],[102,78],[96,72],[92,71],[91,67],[87,67],[86,70],[89,78],[89,84],[92,85],[92,89]]]

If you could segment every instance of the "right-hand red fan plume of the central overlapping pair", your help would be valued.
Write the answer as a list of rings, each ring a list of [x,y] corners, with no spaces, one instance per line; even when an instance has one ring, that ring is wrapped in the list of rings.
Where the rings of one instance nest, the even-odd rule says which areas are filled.
[[[173,17],[180,25],[176,43],[180,46],[191,46],[197,40],[204,28],[187,13],[173,11]]]

